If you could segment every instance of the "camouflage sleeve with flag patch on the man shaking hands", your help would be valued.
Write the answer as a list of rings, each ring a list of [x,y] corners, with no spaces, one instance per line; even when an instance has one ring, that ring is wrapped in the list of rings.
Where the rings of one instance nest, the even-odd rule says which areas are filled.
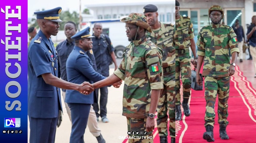
[[[146,53],[145,59],[151,90],[163,89],[162,54],[158,49],[151,49]]]

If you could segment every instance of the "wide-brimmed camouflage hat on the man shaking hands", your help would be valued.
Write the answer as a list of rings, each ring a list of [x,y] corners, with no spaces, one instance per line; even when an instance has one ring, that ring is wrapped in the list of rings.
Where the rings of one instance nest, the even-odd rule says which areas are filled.
[[[141,13],[130,13],[128,17],[120,20],[121,22],[135,24],[146,29],[148,32],[152,32],[151,27],[148,25],[148,19]]]

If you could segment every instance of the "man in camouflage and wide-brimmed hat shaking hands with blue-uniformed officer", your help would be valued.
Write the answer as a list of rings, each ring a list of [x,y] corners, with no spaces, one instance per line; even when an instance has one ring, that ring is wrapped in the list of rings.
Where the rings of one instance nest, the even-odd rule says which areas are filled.
[[[153,143],[155,112],[163,89],[162,50],[146,38],[152,32],[147,19],[140,13],[130,13],[120,20],[125,22],[126,35],[131,43],[126,47],[119,68],[108,78],[93,84],[100,88],[125,80],[123,116],[128,131],[147,131],[145,138],[129,139],[129,143]],[[133,135],[130,135],[133,136]]]

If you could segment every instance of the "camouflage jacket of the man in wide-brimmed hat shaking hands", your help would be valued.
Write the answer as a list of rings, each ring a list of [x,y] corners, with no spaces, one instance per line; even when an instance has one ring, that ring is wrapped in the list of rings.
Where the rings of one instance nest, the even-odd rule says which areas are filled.
[[[162,50],[146,36],[133,41],[126,47],[114,74],[125,81],[122,115],[147,118],[151,90],[163,89]]]

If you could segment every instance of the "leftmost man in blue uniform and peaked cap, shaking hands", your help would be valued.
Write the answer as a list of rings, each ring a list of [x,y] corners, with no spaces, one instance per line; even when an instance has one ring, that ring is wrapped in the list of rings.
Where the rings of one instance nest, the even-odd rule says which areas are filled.
[[[57,7],[34,12],[40,31],[31,40],[28,49],[27,114],[30,122],[30,143],[55,142],[57,116],[59,110],[62,110],[59,88],[87,92],[86,94],[94,91],[88,82],[82,81],[86,85],[81,86],[57,77],[57,54],[50,37],[59,32],[61,10],[61,7]]]

